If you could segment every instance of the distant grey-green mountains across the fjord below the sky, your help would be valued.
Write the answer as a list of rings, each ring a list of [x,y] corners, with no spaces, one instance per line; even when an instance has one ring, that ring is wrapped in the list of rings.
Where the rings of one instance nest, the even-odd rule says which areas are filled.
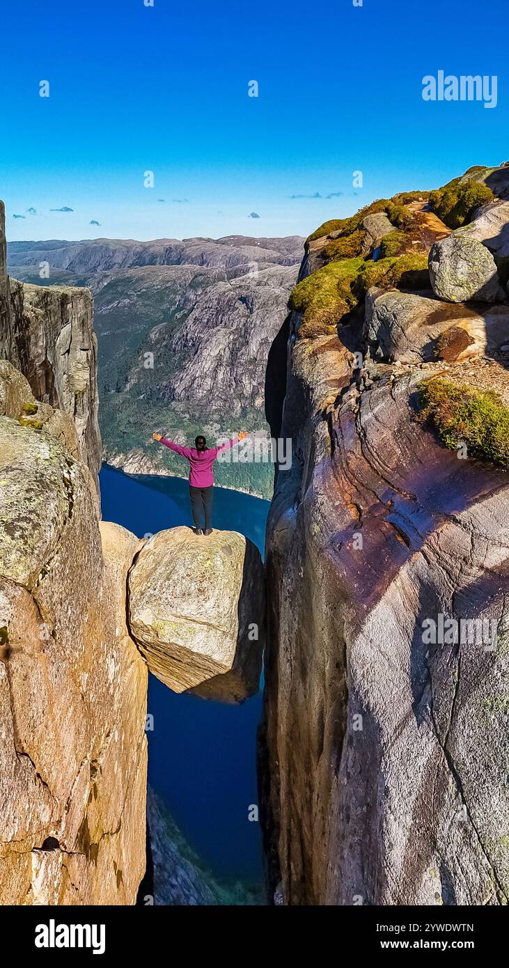
[[[153,430],[214,441],[241,427],[268,433],[269,348],[287,313],[304,239],[95,239],[13,242],[11,276],[94,294],[105,458],[138,473],[184,473]],[[41,278],[41,272],[48,278]],[[152,355],[150,355],[152,354]],[[219,468],[218,483],[262,497],[267,465]]]

